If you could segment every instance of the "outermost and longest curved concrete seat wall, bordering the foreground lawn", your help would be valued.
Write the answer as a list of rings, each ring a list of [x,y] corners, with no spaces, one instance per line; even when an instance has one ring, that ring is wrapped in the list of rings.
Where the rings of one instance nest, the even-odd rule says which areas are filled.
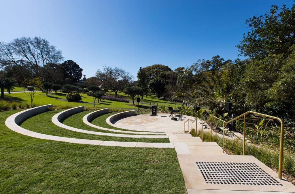
[[[67,138],[67,137],[60,137],[60,136],[52,136],[46,135],[42,133],[37,133],[34,131],[30,131],[27,129],[22,128],[18,124],[25,119],[34,116],[36,114],[40,114],[46,112],[53,108],[52,104],[47,104],[44,106],[38,106],[35,108],[30,108],[24,111],[20,111],[9,116],[6,121],[5,125],[22,135],[30,136],[33,138],[45,139],[45,140],[53,140],[53,141],[62,141],[68,143],[80,143],[80,144],[89,144],[89,145],[105,145],[105,146],[118,146],[118,147],[141,147],[141,148],[174,148],[173,143],[141,143],[141,142],[120,142],[120,141],[101,141],[101,140],[89,140],[89,139],[78,139],[78,138]]]

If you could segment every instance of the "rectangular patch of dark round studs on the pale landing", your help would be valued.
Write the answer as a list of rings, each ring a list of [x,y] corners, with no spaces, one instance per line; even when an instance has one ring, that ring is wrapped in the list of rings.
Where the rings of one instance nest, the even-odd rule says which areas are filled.
[[[196,162],[208,184],[283,186],[255,163]]]

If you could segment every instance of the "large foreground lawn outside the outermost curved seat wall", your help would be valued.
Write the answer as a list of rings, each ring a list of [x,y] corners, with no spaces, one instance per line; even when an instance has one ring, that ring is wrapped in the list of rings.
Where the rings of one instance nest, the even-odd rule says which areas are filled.
[[[0,114],[1,193],[186,193],[172,148],[32,138],[5,126],[6,118],[18,111]]]

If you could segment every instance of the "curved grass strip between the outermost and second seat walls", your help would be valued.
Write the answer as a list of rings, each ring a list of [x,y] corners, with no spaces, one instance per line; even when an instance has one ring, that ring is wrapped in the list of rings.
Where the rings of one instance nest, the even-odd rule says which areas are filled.
[[[38,114],[25,120],[21,126],[30,131],[43,133],[53,136],[69,137],[69,138],[80,138],[80,139],[91,139],[91,140],[102,140],[102,141],[127,141],[127,142],[164,142],[168,143],[168,138],[125,138],[125,137],[112,137],[112,136],[100,136],[94,134],[80,133],[71,131],[56,126],[51,122],[51,118],[56,113],[63,110],[47,111],[45,113]],[[69,117],[70,118],[70,117]],[[80,122],[83,122],[82,120]]]

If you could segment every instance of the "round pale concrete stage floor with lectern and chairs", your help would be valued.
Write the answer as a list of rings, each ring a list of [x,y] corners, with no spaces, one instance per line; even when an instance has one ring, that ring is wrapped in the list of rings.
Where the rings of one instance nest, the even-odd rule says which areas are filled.
[[[177,117],[178,118],[178,117]],[[183,116],[182,119],[194,119],[192,116]],[[171,120],[170,114],[158,113],[158,116],[150,114],[134,115],[113,121],[113,126],[122,129],[138,131],[164,131],[164,132],[184,132],[184,120]],[[189,124],[191,125],[191,124]],[[186,123],[187,127],[187,123]],[[191,126],[189,126],[191,128]],[[186,128],[187,130],[187,128]]]

